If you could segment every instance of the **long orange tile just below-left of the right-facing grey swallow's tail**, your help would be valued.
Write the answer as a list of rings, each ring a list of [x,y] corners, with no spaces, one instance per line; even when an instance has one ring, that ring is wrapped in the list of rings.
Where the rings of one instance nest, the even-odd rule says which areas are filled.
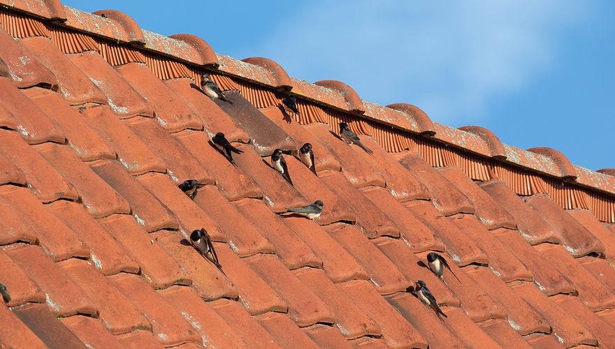
[[[245,199],[233,204],[275,246],[275,253],[289,269],[322,267],[322,261],[312,249],[265,202]]]

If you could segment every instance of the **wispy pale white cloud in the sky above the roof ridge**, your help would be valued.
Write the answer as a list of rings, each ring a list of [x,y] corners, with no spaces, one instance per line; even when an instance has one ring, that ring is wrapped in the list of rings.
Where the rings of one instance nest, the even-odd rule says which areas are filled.
[[[556,61],[584,4],[311,1],[245,50],[295,77],[340,80],[370,101],[412,103],[436,121],[468,124],[485,117],[491,98],[522,89]]]

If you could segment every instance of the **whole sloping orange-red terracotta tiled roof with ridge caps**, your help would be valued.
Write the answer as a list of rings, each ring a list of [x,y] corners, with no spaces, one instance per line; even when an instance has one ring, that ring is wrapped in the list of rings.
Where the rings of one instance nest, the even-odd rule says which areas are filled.
[[[8,2],[0,346],[615,346],[613,170],[118,11]],[[204,72],[232,104],[203,94]],[[342,121],[374,154],[338,137]],[[317,174],[294,156],[305,142]],[[276,148],[294,186],[268,165]],[[315,221],[280,215],[315,200]],[[200,228],[224,274],[189,244]],[[433,251],[458,280],[426,267]],[[408,292],[418,280],[442,322]]]

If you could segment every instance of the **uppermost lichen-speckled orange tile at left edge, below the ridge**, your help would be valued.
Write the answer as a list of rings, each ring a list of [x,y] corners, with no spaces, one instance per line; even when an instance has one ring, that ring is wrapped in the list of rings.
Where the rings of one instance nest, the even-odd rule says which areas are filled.
[[[37,84],[57,85],[55,75],[38,60],[31,57],[29,52],[16,40],[13,40],[3,28],[0,28],[0,46],[3,47],[2,52],[0,52],[0,59],[8,66],[10,77],[15,86],[24,89]],[[24,57],[24,59],[19,59],[19,57]]]

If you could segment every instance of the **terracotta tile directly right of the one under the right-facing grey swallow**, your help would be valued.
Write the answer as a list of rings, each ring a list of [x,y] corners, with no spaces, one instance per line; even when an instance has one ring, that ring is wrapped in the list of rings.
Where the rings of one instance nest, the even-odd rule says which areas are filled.
[[[340,172],[328,171],[320,174],[319,178],[333,193],[338,195],[340,200],[348,203],[356,215],[356,223],[365,230],[367,237],[371,239],[384,235],[399,236],[398,228],[389,221],[376,205],[367,200],[361,191],[354,188]]]

